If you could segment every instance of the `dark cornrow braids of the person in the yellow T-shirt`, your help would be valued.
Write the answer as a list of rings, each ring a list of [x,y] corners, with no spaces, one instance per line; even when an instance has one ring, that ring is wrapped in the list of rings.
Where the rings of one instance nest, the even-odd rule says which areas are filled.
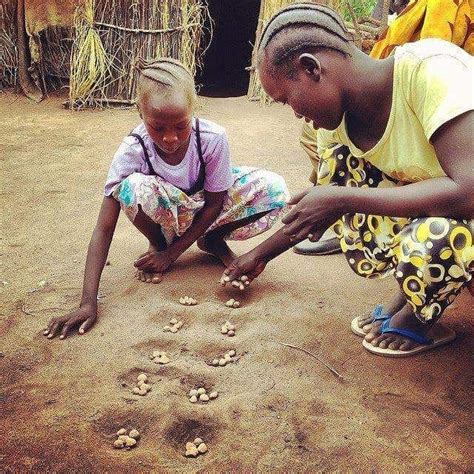
[[[271,74],[286,66],[291,76],[293,60],[305,52],[323,48],[351,56],[352,37],[341,17],[315,3],[295,3],[277,12],[264,28],[258,45],[258,65],[267,56]]]

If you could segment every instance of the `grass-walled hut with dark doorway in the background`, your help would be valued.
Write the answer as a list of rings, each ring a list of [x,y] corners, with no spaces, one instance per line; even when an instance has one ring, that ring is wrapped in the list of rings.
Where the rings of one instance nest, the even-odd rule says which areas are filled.
[[[0,0],[2,85],[19,82],[35,100],[66,85],[75,108],[128,105],[137,61],[171,56],[195,73],[204,95],[266,101],[255,43],[292,1]],[[358,29],[349,0],[314,1],[349,8]]]

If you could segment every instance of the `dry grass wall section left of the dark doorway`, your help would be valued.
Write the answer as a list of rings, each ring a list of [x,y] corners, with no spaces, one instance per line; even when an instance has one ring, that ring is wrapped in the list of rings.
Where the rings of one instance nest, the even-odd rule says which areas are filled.
[[[198,0],[88,0],[76,23],[70,104],[133,104],[140,59],[173,57],[195,73],[208,14]]]

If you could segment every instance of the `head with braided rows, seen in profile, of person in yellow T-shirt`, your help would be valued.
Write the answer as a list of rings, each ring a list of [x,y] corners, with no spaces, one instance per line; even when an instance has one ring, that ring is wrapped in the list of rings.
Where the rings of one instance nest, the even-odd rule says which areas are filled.
[[[364,63],[361,54],[333,9],[293,3],[273,15],[263,29],[257,68],[273,100],[288,104],[315,128],[334,130],[347,106],[351,71]]]

